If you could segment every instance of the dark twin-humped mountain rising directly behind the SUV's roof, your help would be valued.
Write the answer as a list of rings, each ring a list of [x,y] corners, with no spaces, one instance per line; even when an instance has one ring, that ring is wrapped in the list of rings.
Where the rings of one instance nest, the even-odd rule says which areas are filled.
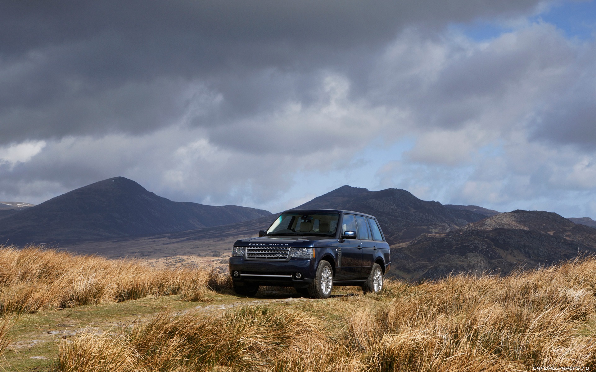
[[[370,191],[347,185],[296,207],[300,208],[330,208],[374,215],[390,244],[408,242],[423,233],[447,233],[487,217],[470,210],[448,208],[436,201],[423,201],[402,189]]]

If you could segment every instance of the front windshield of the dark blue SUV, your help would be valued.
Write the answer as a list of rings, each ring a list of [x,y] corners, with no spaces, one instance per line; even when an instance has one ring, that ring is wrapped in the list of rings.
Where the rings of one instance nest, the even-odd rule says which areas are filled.
[[[267,235],[335,236],[339,213],[284,213],[267,230]]]

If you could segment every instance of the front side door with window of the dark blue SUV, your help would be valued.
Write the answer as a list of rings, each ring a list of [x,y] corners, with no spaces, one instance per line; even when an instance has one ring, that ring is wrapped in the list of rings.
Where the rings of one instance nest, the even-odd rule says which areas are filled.
[[[337,264],[336,281],[356,280],[361,277],[362,246],[358,239],[356,219],[353,214],[344,214],[342,219],[342,235],[346,231],[355,231],[356,239],[342,239],[341,258]]]

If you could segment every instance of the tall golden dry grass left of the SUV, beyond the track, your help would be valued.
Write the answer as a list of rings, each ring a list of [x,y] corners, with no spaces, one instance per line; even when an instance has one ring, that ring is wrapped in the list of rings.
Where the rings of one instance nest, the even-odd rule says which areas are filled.
[[[157,270],[136,260],[0,245],[0,317],[147,295],[209,301],[213,290],[230,287],[229,276],[213,270]]]

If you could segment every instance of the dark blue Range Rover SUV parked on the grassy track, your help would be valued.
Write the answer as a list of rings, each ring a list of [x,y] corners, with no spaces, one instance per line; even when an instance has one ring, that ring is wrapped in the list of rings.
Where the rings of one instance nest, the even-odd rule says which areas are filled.
[[[379,292],[389,257],[389,244],[372,215],[288,210],[259,237],[234,243],[229,272],[242,295],[254,295],[259,286],[284,286],[328,298],[334,285]]]

